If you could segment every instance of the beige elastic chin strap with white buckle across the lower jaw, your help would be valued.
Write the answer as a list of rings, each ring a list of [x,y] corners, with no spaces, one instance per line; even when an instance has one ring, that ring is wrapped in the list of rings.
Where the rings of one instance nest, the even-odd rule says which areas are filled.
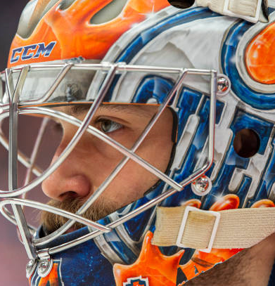
[[[203,211],[195,207],[158,207],[153,245],[177,245],[211,252],[248,248],[275,231],[275,207]]]

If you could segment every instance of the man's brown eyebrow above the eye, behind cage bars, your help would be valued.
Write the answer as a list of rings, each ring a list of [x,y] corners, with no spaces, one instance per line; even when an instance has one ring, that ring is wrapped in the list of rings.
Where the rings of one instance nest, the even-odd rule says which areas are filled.
[[[68,115],[81,115],[84,112],[87,112],[91,108],[89,104],[77,104],[77,105],[70,105],[66,108],[66,113]],[[99,106],[98,110],[101,112],[105,111],[112,111],[112,112],[123,112],[129,115],[139,115],[143,117],[151,118],[153,116],[152,112],[143,106],[143,105],[130,105],[130,104],[102,104]]]

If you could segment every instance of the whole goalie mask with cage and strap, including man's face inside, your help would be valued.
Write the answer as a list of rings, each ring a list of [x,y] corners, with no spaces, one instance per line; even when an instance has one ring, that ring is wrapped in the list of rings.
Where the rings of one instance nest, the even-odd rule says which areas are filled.
[[[1,73],[0,207],[30,285],[184,285],[274,232],[274,9],[205,2],[27,4]],[[30,155],[21,117],[41,122]],[[60,203],[26,198],[40,189]]]

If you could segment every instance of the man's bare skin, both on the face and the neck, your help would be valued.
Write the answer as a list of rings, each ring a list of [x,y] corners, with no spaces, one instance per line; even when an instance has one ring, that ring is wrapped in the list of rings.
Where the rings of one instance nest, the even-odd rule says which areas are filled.
[[[56,109],[81,120],[87,113],[87,108],[83,107]],[[156,111],[157,108],[153,106],[129,108],[123,105],[103,105],[96,112],[91,125],[130,149]],[[53,157],[53,162],[58,159],[77,131],[75,126],[67,122],[57,121],[57,124],[63,136]],[[136,153],[161,171],[165,171],[170,160],[172,145],[172,112],[165,110]],[[48,197],[53,199],[50,204],[75,212],[96,191],[123,157],[117,150],[86,133],[65,162],[46,178],[42,189]],[[158,178],[153,174],[136,162],[129,160],[120,174],[96,200],[92,208],[93,214],[87,214],[86,217],[94,220],[99,219],[129,202],[139,199],[157,181]],[[73,206],[74,202],[77,202],[75,206]],[[46,219],[53,221],[59,219],[59,216],[53,219],[49,214]],[[51,226],[53,227],[51,231],[62,225],[64,221],[58,221],[58,223],[56,226]],[[219,286],[224,285],[226,281],[226,285],[229,286],[266,286],[275,259],[274,245],[275,234],[258,245],[243,250],[224,264],[202,273],[196,279],[187,282],[186,285]]]

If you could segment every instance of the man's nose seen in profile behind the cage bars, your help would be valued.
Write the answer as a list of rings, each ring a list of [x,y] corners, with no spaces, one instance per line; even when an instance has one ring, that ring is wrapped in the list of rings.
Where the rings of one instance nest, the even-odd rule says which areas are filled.
[[[58,160],[62,150],[60,145],[51,163]],[[60,201],[68,196],[86,197],[91,191],[91,182],[84,171],[77,150],[72,150],[60,167],[43,181],[42,190],[44,194]]]

